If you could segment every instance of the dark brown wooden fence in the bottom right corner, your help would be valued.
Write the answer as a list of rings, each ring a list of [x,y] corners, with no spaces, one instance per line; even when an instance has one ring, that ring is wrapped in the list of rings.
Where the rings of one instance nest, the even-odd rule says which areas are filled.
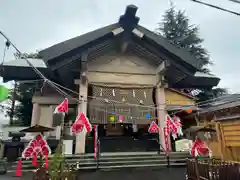
[[[188,180],[237,180],[240,164],[221,160],[187,160]]]

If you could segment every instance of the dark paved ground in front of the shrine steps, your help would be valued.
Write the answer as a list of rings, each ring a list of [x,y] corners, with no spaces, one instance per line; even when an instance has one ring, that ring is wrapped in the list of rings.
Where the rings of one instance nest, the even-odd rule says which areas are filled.
[[[0,175],[0,180],[31,180],[31,174],[23,177]],[[80,172],[79,180],[185,180],[185,168],[144,168],[144,169],[121,169],[111,171]]]

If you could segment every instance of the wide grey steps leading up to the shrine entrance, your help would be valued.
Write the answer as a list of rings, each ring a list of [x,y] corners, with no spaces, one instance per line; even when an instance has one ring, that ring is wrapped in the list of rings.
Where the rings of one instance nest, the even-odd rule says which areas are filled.
[[[186,159],[190,158],[187,152],[171,152],[169,164],[165,153],[161,152],[124,152],[124,153],[101,153],[98,161],[93,154],[67,155],[66,161],[69,165],[78,166],[79,170],[111,170],[122,168],[144,168],[144,167],[177,167],[186,166]],[[51,161],[51,157],[49,157]],[[15,173],[17,162],[12,164],[8,172]],[[22,162],[22,171],[34,170],[31,160]]]

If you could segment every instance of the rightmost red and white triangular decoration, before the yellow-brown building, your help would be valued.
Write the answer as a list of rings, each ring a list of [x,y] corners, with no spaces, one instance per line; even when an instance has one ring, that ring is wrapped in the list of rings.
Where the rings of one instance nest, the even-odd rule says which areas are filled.
[[[212,156],[212,151],[208,148],[206,143],[201,140],[199,137],[196,137],[196,140],[194,141],[191,149],[191,155],[194,158],[197,158],[199,156]]]

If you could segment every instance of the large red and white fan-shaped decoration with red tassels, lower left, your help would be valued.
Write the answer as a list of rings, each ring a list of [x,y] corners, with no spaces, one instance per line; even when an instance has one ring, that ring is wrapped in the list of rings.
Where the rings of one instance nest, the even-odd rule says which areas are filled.
[[[32,159],[32,165],[37,166],[37,158],[45,158],[45,167],[48,168],[48,156],[51,154],[51,149],[47,141],[41,134],[36,135],[24,149],[22,158]],[[22,176],[22,161],[19,159],[18,167],[16,169],[16,176]]]

